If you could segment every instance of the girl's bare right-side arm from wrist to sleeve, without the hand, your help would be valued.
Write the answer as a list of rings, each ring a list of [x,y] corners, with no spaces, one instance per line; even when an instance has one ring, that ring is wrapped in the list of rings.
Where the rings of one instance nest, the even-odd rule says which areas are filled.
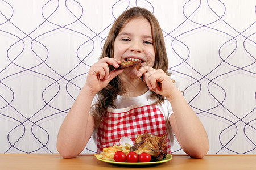
[[[209,151],[209,141],[204,126],[176,87],[167,100],[170,101],[174,111],[170,116],[170,124],[181,148],[192,158],[203,158]]]

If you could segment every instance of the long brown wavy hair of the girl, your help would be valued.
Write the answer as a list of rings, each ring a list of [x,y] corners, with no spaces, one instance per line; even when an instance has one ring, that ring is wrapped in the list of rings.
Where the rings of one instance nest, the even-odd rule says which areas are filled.
[[[117,20],[115,20],[109,35],[102,49],[102,54],[99,59],[104,57],[114,58],[114,41],[119,32],[125,25],[134,18],[146,18],[151,25],[153,44],[155,49],[155,63],[154,69],[162,69],[167,75],[168,70],[168,57],[164,44],[164,37],[162,29],[155,16],[148,10],[139,7],[133,7],[123,12]],[[114,70],[112,65],[109,66],[110,71]],[[117,95],[122,92],[122,84],[118,76],[109,82],[109,84],[98,92],[99,99],[92,107],[92,112],[98,126],[101,122],[102,116],[107,112],[108,107],[115,107],[114,100]],[[151,97],[158,99],[155,104],[162,103],[164,97],[152,91]]]

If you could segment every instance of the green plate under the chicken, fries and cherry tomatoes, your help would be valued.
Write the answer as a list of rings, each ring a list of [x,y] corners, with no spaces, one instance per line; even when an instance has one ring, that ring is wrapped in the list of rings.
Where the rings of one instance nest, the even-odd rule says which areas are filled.
[[[119,164],[119,165],[152,165],[152,164],[160,164],[163,162],[168,162],[171,159],[172,159],[172,155],[167,154],[166,158],[159,160],[159,161],[154,161],[154,162],[115,162],[115,161],[104,160],[104,159],[98,159],[98,160],[101,160],[103,162],[112,163],[112,164]]]

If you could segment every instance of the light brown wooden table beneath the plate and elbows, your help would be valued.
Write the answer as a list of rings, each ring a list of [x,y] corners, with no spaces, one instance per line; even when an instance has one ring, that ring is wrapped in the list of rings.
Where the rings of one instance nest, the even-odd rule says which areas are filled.
[[[0,169],[256,169],[255,155],[211,154],[203,159],[192,159],[187,155],[173,154],[169,162],[148,167],[122,167],[97,160],[92,154],[63,159],[56,154],[0,154]]]

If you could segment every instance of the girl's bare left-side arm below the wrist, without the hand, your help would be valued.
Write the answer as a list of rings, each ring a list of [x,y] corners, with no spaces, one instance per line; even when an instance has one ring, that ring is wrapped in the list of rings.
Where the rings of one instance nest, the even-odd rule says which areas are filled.
[[[73,158],[79,155],[93,133],[95,122],[89,112],[94,96],[88,94],[88,89],[82,88],[60,126],[57,151],[64,158]]]

